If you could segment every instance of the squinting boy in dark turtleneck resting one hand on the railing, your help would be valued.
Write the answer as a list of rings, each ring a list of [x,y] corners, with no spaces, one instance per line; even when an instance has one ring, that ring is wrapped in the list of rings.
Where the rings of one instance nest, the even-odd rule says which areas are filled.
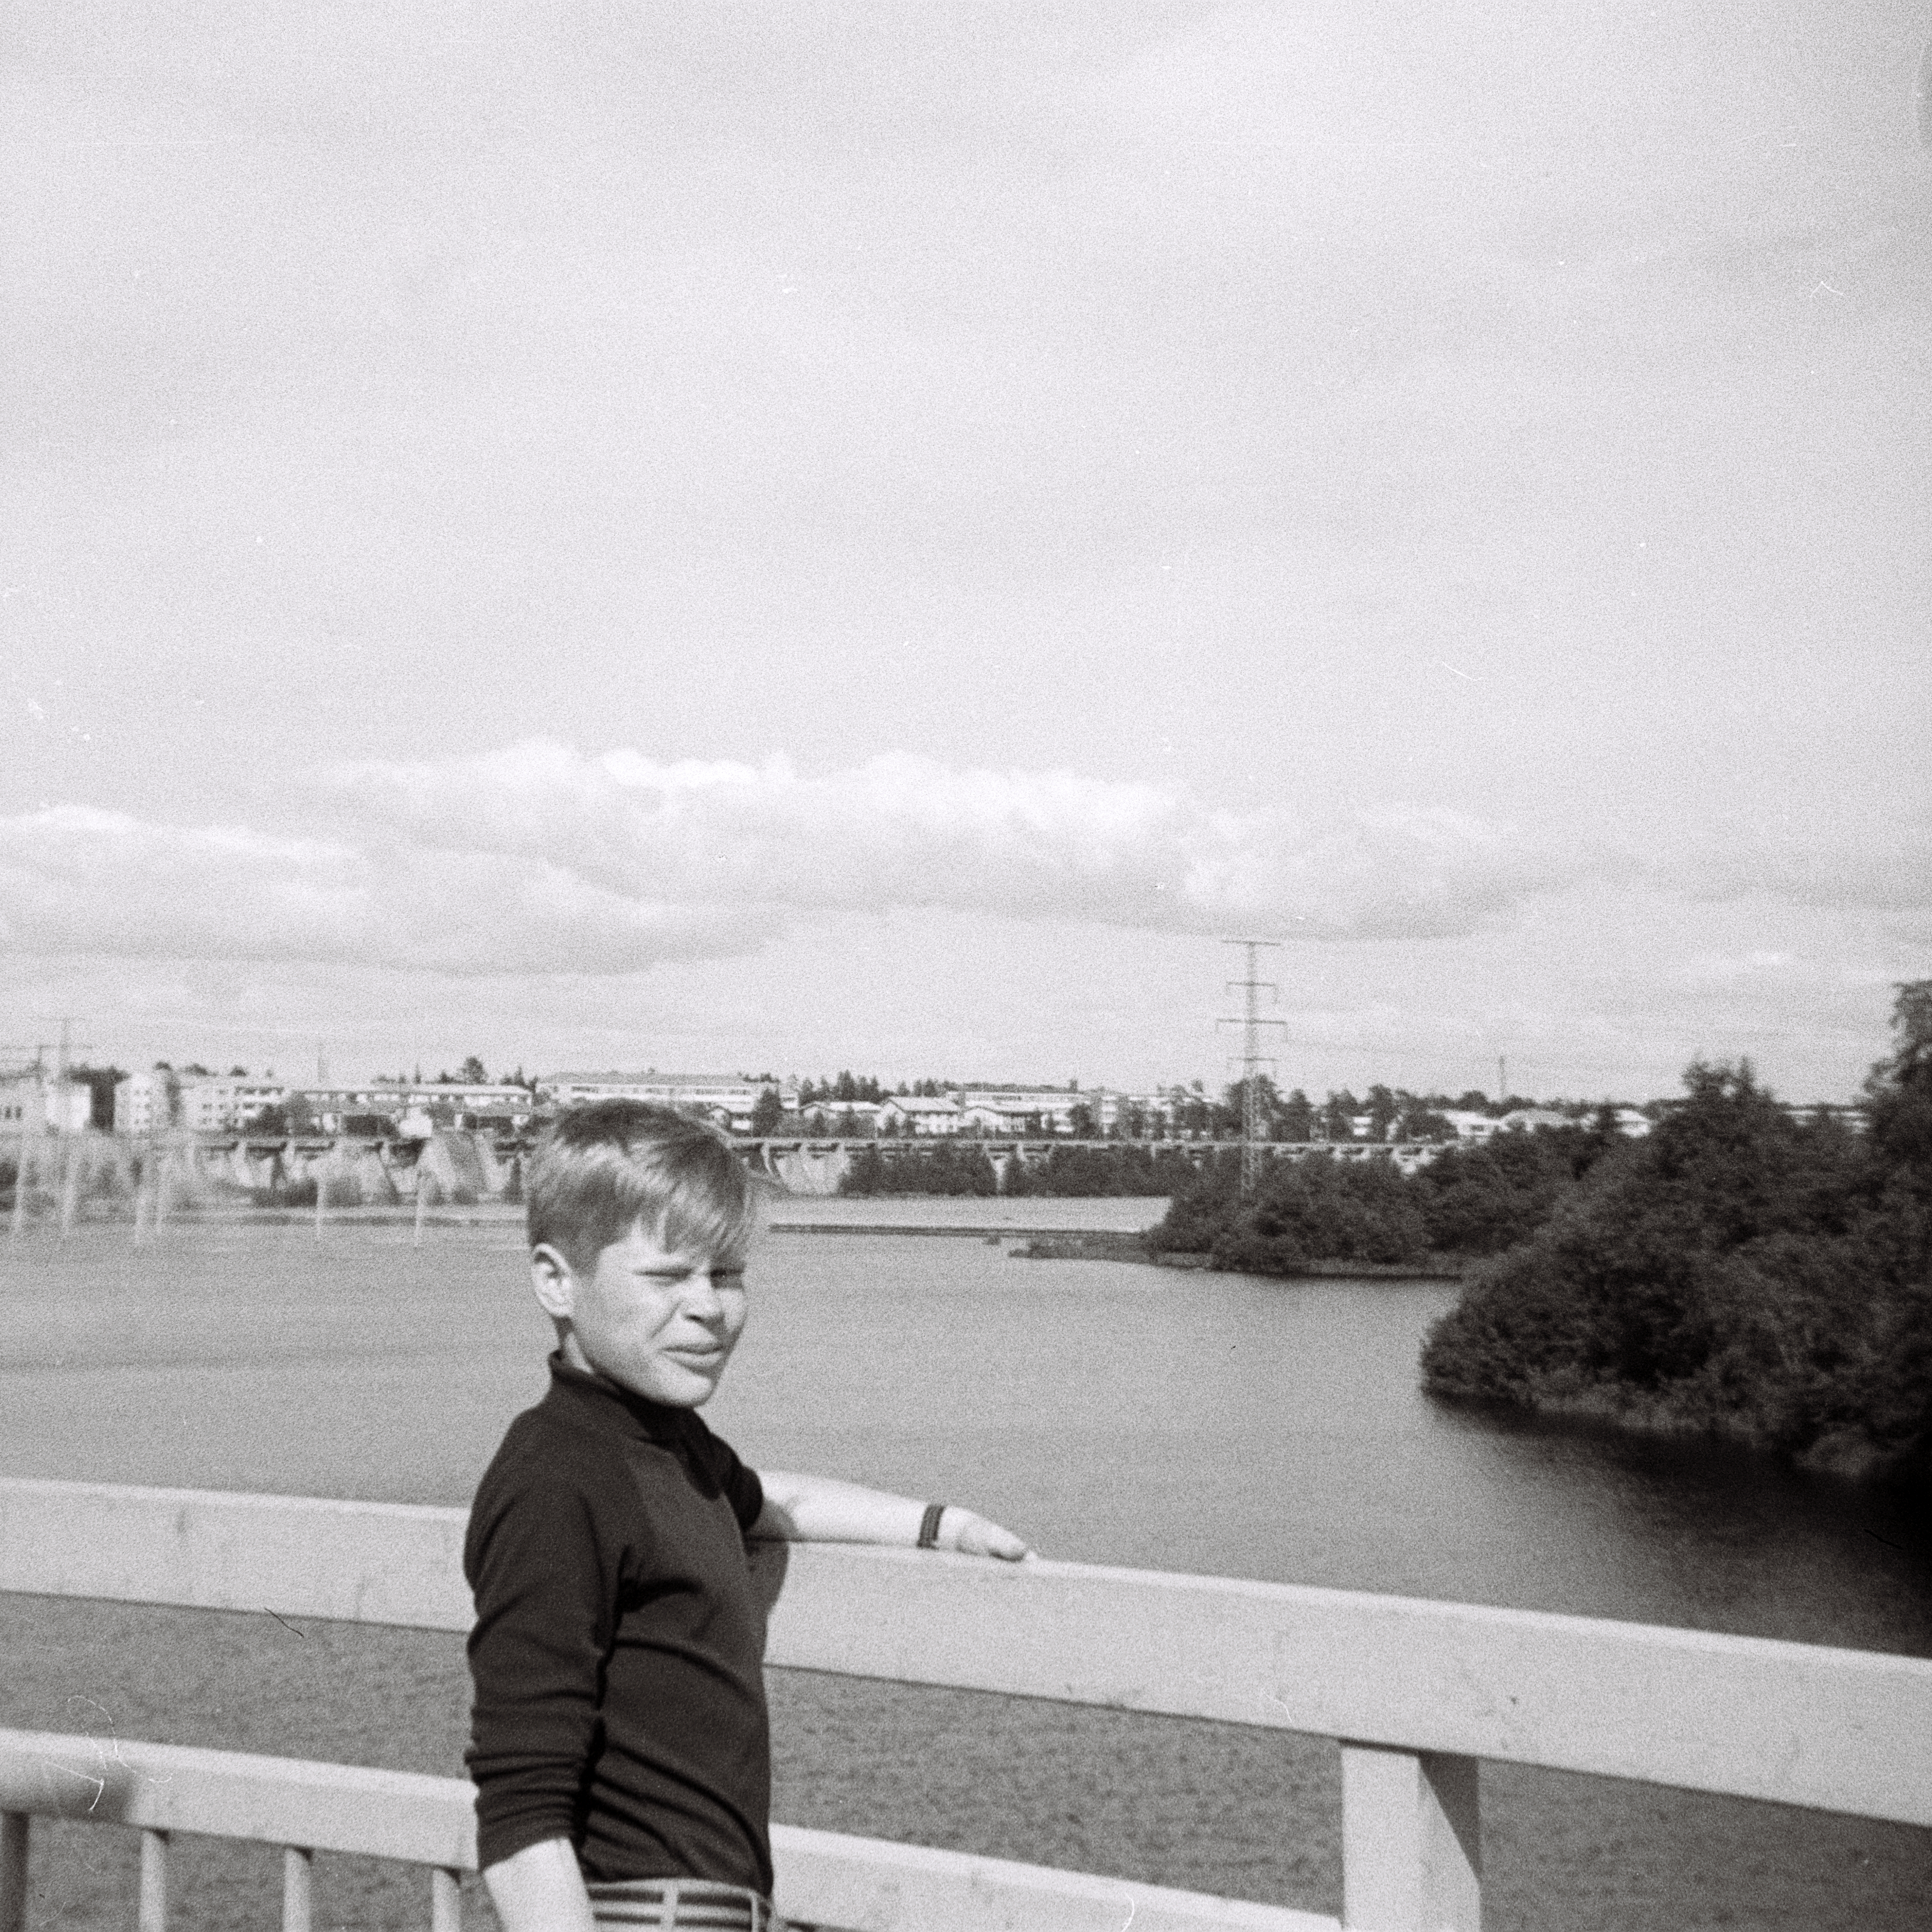
[[[468,1764],[504,1932],[773,1924],[746,1538],[1028,1553],[964,1509],[750,1470],[705,1428],[753,1233],[736,1155],[661,1107],[570,1107],[531,1165],[529,1275],[558,1347],[464,1548]]]

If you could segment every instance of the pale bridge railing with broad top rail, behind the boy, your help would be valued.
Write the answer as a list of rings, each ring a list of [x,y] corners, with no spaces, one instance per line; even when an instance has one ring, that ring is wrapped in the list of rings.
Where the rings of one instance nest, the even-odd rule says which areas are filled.
[[[466,1631],[454,1509],[0,1482],[0,1590]],[[1478,1764],[1540,1764],[1932,1826],[1932,1662],[1213,1577],[898,1549],[761,1551],[773,1665],[1209,1718],[1341,1743],[1343,1917],[775,1828],[779,1905],[852,1932],[1476,1932]],[[174,1832],[286,1847],[284,1926],[315,1849],[431,1870],[454,1932],[475,1868],[460,1779],[0,1733],[0,1932],[27,1820],[143,1833],[164,1932]]]

